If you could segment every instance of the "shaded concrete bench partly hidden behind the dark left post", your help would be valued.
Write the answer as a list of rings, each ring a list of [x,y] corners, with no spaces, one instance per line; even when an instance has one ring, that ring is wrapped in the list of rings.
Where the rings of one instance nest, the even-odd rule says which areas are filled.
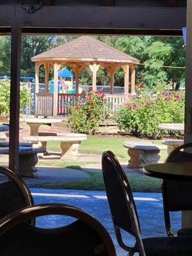
[[[4,144],[3,144],[4,143]],[[5,147],[4,147],[5,146]],[[38,153],[44,153],[45,148],[33,148],[31,143],[19,143],[19,175],[23,177],[38,177],[35,165],[38,163]],[[0,155],[9,154],[8,141],[0,143]]]

